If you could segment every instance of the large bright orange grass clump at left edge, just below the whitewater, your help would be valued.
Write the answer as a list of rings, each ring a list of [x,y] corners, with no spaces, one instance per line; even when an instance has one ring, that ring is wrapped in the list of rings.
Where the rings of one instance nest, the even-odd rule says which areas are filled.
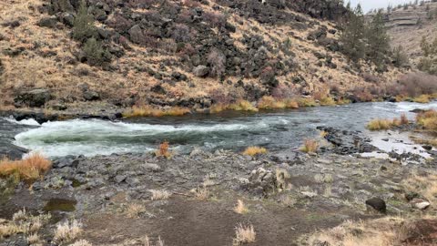
[[[35,181],[41,178],[52,162],[40,154],[31,154],[22,160],[0,160],[0,177],[14,176],[17,180]]]

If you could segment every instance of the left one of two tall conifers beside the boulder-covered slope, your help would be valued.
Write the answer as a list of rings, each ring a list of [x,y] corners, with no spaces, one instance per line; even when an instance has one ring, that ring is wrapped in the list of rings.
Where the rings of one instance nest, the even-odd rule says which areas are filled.
[[[364,57],[364,35],[364,15],[362,14],[361,5],[357,5],[340,36],[340,41],[343,44],[343,53],[349,56],[354,62],[358,62]]]

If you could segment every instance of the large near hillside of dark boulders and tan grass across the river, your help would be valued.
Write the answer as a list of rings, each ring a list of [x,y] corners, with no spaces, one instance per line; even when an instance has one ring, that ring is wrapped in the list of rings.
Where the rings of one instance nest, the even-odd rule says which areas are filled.
[[[347,10],[336,1],[84,3],[86,18],[79,0],[0,3],[0,105],[208,108],[267,95],[376,95],[399,75],[390,68],[376,87],[373,67],[341,55]]]

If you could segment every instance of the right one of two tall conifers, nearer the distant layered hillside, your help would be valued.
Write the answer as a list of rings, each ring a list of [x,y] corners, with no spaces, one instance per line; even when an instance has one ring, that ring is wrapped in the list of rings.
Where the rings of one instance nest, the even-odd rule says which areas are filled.
[[[369,27],[367,28],[367,58],[373,62],[379,71],[385,70],[387,56],[390,54],[390,36],[387,34],[387,28],[383,19],[383,14],[378,11],[373,16]]]

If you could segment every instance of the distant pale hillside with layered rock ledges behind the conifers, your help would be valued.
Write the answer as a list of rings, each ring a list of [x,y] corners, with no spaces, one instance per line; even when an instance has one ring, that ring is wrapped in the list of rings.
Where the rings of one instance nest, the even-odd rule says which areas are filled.
[[[429,42],[437,37],[437,2],[397,8],[386,14],[386,18],[391,46],[403,46],[412,65],[416,66],[422,56],[422,36]]]

